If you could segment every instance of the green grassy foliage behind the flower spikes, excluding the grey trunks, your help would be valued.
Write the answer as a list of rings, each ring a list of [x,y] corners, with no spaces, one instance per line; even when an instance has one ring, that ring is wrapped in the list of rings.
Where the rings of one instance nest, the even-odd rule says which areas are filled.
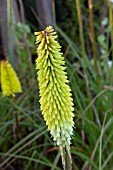
[[[55,27],[60,35],[66,60],[69,85],[75,108],[75,127],[71,144],[73,170],[112,170],[113,168],[113,65],[111,51],[111,28],[109,16],[103,15],[104,0],[93,1],[94,28],[99,75],[94,69],[94,56],[89,34],[87,1],[82,0],[81,13],[87,61],[81,52],[75,1],[57,1],[62,9],[62,20]],[[67,5],[65,5],[67,4]],[[65,8],[64,8],[65,7]],[[67,20],[68,8],[71,17]],[[61,11],[60,11],[61,12]],[[57,11],[58,14],[58,11]],[[104,32],[101,32],[102,24]],[[70,26],[71,25],[71,26]],[[24,28],[23,28],[24,27]],[[61,170],[58,148],[55,147],[39,109],[39,93],[36,71],[28,55],[34,54],[34,35],[30,26],[17,24],[16,50],[19,58],[17,68],[22,82],[22,95],[16,99],[3,97],[0,93],[0,169],[51,169]],[[26,30],[29,52],[23,45]],[[37,29],[35,29],[37,30]],[[99,77],[99,85],[96,78]]]

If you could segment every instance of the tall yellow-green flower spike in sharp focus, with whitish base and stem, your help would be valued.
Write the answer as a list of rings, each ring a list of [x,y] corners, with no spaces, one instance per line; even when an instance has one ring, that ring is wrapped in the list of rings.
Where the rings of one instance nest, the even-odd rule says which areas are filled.
[[[40,90],[41,110],[55,143],[61,151],[64,169],[65,157],[70,156],[70,143],[73,134],[73,100],[68,85],[65,61],[56,32],[49,26],[44,31],[35,32],[38,44],[36,69]],[[71,167],[69,168],[71,169]]]

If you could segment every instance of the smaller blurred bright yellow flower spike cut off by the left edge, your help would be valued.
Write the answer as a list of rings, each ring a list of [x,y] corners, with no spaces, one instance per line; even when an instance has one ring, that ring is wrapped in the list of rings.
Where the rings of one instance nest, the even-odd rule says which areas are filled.
[[[7,60],[0,61],[1,69],[1,87],[4,96],[12,95],[15,97],[15,93],[22,92],[19,79],[13,70],[11,64]]]

